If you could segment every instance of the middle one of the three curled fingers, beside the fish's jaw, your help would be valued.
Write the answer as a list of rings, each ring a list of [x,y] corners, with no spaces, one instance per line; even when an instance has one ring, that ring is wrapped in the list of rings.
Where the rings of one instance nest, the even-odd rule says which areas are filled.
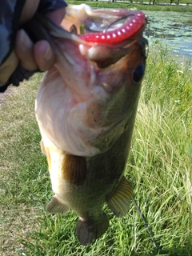
[[[34,44],[24,30],[19,30],[15,41],[15,52],[26,70],[37,70],[34,60]]]

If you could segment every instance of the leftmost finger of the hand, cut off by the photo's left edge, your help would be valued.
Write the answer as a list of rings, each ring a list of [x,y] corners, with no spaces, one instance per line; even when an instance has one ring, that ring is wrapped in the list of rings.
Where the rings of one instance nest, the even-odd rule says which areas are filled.
[[[14,51],[12,51],[9,58],[6,59],[6,62],[0,66],[0,82],[6,83],[17,66],[18,57]]]

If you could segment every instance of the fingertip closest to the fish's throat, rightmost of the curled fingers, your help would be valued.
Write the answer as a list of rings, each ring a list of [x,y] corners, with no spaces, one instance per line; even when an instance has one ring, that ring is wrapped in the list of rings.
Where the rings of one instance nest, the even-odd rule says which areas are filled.
[[[39,70],[49,70],[54,65],[54,52],[50,48],[50,44],[45,41],[38,41],[34,45],[34,59],[38,64]]]

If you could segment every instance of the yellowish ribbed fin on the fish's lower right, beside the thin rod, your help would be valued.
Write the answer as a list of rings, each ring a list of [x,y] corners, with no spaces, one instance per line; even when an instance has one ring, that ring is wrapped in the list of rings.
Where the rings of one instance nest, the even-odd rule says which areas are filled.
[[[112,210],[117,217],[122,217],[129,210],[132,196],[132,186],[130,186],[130,183],[127,182],[126,178],[123,176],[118,182],[114,194],[112,194],[106,202],[110,210]]]

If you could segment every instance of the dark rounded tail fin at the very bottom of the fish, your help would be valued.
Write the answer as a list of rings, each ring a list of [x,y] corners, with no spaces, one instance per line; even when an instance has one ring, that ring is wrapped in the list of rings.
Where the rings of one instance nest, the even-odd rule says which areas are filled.
[[[78,241],[82,246],[89,246],[94,239],[100,238],[102,234],[106,232],[109,226],[109,219],[106,214],[103,213],[102,218],[98,221],[86,221],[82,218],[78,219],[76,232],[78,235]]]

